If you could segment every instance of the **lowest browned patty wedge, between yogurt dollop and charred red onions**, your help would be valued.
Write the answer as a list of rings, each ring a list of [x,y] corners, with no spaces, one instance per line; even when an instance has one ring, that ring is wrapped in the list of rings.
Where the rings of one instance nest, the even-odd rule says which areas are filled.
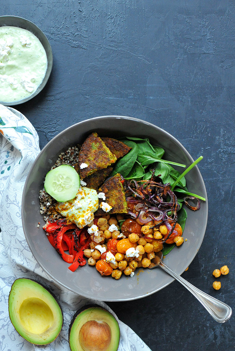
[[[105,194],[105,200],[99,198],[99,208],[95,212],[95,216],[102,216],[107,213],[102,210],[101,206],[105,207],[105,204],[111,206],[111,210],[109,213],[127,213],[128,207],[125,197],[125,192],[122,184],[122,177],[119,173],[115,174],[115,176],[109,178],[104,182],[104,184],[99,187],[98,193]],[[99,196],[99,195],[98,195]]]

